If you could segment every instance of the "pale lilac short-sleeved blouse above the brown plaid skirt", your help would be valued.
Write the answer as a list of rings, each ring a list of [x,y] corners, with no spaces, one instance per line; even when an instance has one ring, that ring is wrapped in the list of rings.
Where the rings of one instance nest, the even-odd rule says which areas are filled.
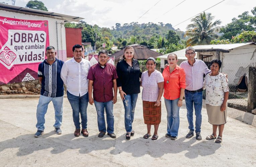
[[[141,81],[142,81],[142,100],[148,101],[148,102],[156,102],[159,88],[158,84],[159,82],[163,82],[164,78],[158,70],[155,70],[152,72],[149,76],[148,71],[145,71],[141,75]]]

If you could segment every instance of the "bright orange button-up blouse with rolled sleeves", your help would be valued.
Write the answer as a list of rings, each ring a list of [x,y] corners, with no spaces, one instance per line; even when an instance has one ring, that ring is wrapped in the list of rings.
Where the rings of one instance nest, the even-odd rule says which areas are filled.
[[[180,97],[180,89],[186,88],[186,74],[183,68],[176,65],[172,73],[170,73],[169,66],[163,71],[164,77],[164,98],[168,100],[175,100]]]

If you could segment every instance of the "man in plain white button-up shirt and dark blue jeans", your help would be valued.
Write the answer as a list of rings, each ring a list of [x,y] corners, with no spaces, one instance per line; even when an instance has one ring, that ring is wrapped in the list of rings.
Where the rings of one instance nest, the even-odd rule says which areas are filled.
[[[61,69],[61,78],[67,87],[67,97],[73,110],[73,121],[76,127],[74,135],[80,136],[80,124],[82,124],[81,133],[88,137],[87,131],[87,106],[88,97],[88,71],[91,64],[83,59],[83,47],[79,44],[73,46],[73,58],[64,62]],[[81,123],[79,119],[81,115]]]

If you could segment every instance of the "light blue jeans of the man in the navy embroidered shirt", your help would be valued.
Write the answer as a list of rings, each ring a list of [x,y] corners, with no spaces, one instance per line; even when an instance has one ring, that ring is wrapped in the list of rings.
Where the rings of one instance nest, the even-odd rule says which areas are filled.
[[[36,109],[37,124],[35,125],[35,127],[37,128],[37,130],[44,131],[45,129],[45,114],[47,112],[48,105],[51,101],[53,102],[53,107],[55,111],[55,124],[53,126],[55,128],[61,127],[63,114],[63,96],[51,98],[40,95]]]

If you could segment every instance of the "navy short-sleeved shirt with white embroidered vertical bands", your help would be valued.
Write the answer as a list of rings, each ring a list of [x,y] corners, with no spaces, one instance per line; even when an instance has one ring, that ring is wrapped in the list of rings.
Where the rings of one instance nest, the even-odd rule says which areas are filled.
[[[47,59],[38,66],[38,77],[42,77],[40,95],[46,97],[61,97],[64,95],[63,81],[61,79],[61,68],[63,61],[55,59],[52,65]]]

